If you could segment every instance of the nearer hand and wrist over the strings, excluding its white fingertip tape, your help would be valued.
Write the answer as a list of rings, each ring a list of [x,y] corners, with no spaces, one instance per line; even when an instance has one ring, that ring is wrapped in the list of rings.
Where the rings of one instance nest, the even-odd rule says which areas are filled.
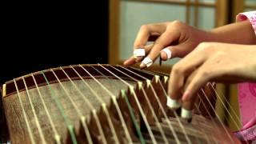
[[[168,94],[192,110],[196,93],[206,82],[256,81],[256,46],[202,42],[174,65]]]

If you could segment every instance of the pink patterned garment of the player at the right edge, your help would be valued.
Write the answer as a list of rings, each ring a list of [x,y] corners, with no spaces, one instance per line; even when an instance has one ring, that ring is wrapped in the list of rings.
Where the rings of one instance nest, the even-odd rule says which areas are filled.
[[[249,20],[256,34],[256,11],[238,14],[237,22]],[[234,134],[243,141],[256,141],[256,83],[238,84],[238,102],[242,118],[242,130]]]

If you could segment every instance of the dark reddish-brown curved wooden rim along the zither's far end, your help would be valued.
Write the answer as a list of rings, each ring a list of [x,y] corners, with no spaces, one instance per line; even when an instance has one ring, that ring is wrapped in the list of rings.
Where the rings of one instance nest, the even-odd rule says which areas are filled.
[[[23,82],[26,82],[28,89],[33,89],[36,86],[45,86],[48,83],[48,82],[46,82],[45,77],[47,78],[47,81],[49,81],[50,84],[58,82],[58,79],[56,78],[56,76],[59,78],[59,80],[61,82],[66,82],[66,81],[69,81],[70,79],[79,80],[81,78],[83,78],[83,79],[91,78],[90,74],[94,75],[95,78],[106,78],[107,77],[107,78],[116,79],[115,76],[111,75],[108,71],[104,70],[102,66],[106,67],[107,69],[113,69],[113,68],[111,68],[111,66],[118,67],[117,65],[109,65],[109,64],[90,64],[90,65],[89,64],[81,64],[81,65],[60,66],[60,67],[50,68],[47,70],[37,71],[37,72],[31,73],[31,74],[26,74],[22,77],[14,78],[14,80],[18,85],[18,90],[23,91],[23,90],[26,90]],[[129,68],[129,69],[132,68],[131,66],[124,66],[124,67]],[[74,68],[74,70],[73,70],[73,68]],[[84,72],[82,70],[83,68],[86,68],[86,70],[88,70],[88,72],[90,74],[87,74],[88,72]],[[56,75],[51,70],[53,70]],[[65,73],[68,74],[70,79],[68,77],[66,77],[66,74],[62,70],[64,70]],[[99,71],[101,71],[101,72],[99,72]],[[141,70],[135,70],[135,71],[138,72]],[[43,74],[42,74],[42,72],[43,72]],[[81,75],[78,76],[78,74],[81,74]],[[146,71],[145,70],[141,71],[141,74],[145,75]],[[157,72],[155,72],[154,74],[165,75],[165,74],[161,74],[161,73],[157,73]],[[118,75],[118,77],[121,77],[128,81],[134,81],[134,80],[126,77],[125,75],[122,75],[122,74],[117,74],[117,75]],[[146,77],[151,78],[151,76],[149,76],[149,74],[146,74]],[[14,80],[10,80],[10,81],[6,82],[4,85],[2,85],[3,98],[10,96],[11,94],[17,93],[16,86],[14,84]],[[34,83],[34,80],[36,80],[36,84]]]

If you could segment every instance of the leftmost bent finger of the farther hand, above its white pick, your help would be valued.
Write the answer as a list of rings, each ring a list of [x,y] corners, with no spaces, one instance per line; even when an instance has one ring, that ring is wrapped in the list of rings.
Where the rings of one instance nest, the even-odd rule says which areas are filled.
[[[140,28],[134,41],[134,49],[143,48],[148,42],[150,35],[160,35],[166,30],[165,23],[145,25]]]

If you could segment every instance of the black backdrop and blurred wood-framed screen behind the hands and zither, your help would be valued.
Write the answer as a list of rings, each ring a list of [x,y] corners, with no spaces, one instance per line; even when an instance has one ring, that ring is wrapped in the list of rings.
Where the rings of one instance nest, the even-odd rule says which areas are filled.
[[[0,83],[50,67],[79,63],[122,64],[140,26],[180,20],[203,30],[235,22],[255,0],[102,0],[11,2],[2,10]],[[170,72],[178,58],[150,70]],[[157,63],[157,62],[156,62]],[[219,85],[237,114],[236,86]],[[222,95],[223,95],[222,94]],[[222,119],[233,129],[221,105]],[[232,113],[233,114],[233,113]]]

